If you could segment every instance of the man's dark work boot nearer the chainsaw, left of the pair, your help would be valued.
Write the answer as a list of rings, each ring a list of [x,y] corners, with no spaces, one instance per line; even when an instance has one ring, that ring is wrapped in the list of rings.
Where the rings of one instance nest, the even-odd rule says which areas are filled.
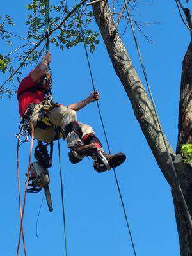
[[[79,143],[70,149],[68,157],[72,164],[77,164],[84,156],[92,156],[96,152],[97,148],[94,144],[84,145],[83,143]]]

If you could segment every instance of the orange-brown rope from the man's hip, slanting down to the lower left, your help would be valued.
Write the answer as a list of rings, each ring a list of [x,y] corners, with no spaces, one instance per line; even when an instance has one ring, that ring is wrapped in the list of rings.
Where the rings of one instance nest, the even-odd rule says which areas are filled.
[[[28,163],[26,187],[25,187],[25,191],[24,191],[24,202],[23,202],[23,205],[22,205],[22,212],[21,212],[21,218],[20,218],[19,240],[18,240],[18,243],[17,243],[17,256],[19,255],[20,237],[21,237],[21,234],[22,234],[22,223],[23,223],[24,211],[25,211],[25,207],[26,207],[26,196],[27,196],[27,189],[28,189],[28,183],[29,183],[31,155],[32,155],[33,140],[34,140],[34,127],[33,127],[33,124],[31,122],[29,122],[29,125],[31,126],[31,145],[30,145],[30,150],[29,150],[29,163]],[[20,182],[19,182],[19,184],[20,184]],[[20,185],[19,185],[19,188],[20,188]]]

